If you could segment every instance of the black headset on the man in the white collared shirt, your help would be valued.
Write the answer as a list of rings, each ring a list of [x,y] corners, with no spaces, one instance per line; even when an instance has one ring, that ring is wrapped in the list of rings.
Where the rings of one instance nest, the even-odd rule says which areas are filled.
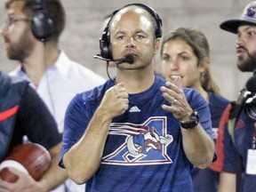
[[[46,9],[45,0],[34,0],[33,2],[33,17],[31,20],[32,34],[41,41],[52,36],[53,21]]]

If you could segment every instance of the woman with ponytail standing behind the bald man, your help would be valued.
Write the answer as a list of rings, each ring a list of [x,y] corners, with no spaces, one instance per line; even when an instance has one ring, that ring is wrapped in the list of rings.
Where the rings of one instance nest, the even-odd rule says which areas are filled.
[[[207,101],[212,115],[214,141],[217,139],[220,116],[229,101],[220,96],[220,89],[210,73],[210,48],[206,36],[196,28],[177,28],[167,33],[161,46],[164,77],[183,87],[196,89]],[[219,172],[194,167],[192,179],[195,192],[217,192]]]

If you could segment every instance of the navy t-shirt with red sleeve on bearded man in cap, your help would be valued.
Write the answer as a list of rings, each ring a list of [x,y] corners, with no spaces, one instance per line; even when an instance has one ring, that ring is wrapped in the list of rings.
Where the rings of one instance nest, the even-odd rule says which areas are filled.
[[[236,119],[235,127],[235,144],[228,132],[228,124],[220,127],[224,130],[219,134],[218,142],[218,156],[220,160],[213,167],[218,172],[229,172],[236,174],[237,153],[241,157],[241,166],[243,172],[243,180],[241,182],[241,192],[255,192],[256,191],[256,175],[247,174],[245,172],[247,164],[248,149],[252,149],[252,137],[256,132],[255,120],[252,120],[246,115],[244,108]]]

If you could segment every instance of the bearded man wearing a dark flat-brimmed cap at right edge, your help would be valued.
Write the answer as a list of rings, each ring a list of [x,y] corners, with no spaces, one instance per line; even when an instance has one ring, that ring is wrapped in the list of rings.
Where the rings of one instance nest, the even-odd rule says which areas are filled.
[[[256,1],[246,5],[240,19],[226,20],[220,28],[237,35],[237,68],[242,72],[255,71]],[[247,103],[248,97],[254,100],[255,80],[254,74],[220,121],[216,144],[218,160],[212,165],[213,170],[221,172],[219,192],[256,191],[256,116],[255,111],[251,110],[254,115],[248,112]]]

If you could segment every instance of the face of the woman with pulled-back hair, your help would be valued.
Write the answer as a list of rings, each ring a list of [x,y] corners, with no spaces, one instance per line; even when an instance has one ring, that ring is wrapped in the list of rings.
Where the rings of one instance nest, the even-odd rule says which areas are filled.
[[[198,65],[196,54],[184,40],[176,38],[165,42],[161,58],[166,81],[175,83],[180,76],[183,87],[201,86],[200,74],[204,67]]]

